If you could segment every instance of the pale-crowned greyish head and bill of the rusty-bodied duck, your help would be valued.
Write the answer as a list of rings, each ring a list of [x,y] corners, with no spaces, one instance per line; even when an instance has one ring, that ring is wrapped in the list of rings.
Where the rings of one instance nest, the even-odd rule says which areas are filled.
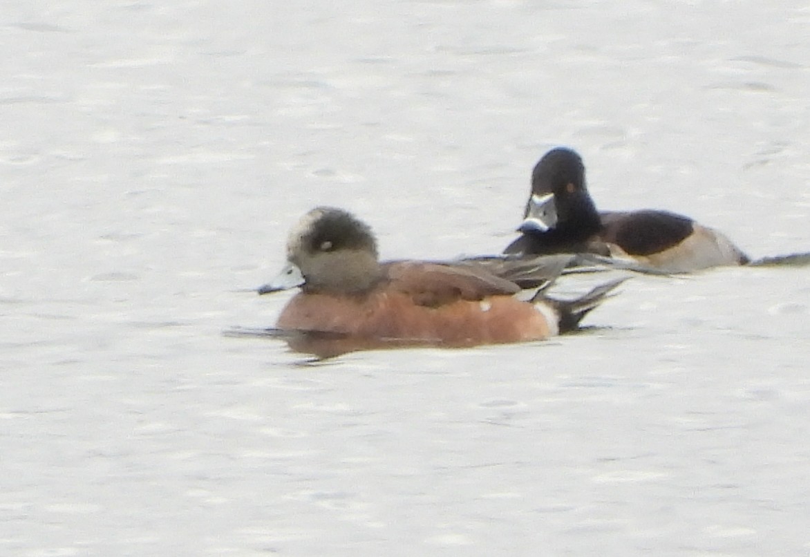
[[[381,274],[371,228],[334,207],[316,207],[292,228],[287,261],[278,277],[259,288],[260,294],[293,287],[311,293],[360,293]]]

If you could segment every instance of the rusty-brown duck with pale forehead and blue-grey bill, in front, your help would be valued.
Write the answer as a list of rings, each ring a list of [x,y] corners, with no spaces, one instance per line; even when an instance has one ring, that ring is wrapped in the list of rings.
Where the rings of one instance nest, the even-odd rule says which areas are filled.
[[[371,229],[330,207],[310,210],[293,228],[287,258],[281,274],[258,291],[301,287],[273,331],[283,332],[278,336],[293,350],[322,358],[383,347],[471,347],[548,338],[575,329],[621,282],[577,300],[552,300],[543,288],[521,300],[525,291],[518,282],[527,284],[527,273],[516,270],[520,261],[380,262]],[[542,262],[534,284],[547,287],[569,257],[537,260]],[[522,280],[514,279],[518,276]]]

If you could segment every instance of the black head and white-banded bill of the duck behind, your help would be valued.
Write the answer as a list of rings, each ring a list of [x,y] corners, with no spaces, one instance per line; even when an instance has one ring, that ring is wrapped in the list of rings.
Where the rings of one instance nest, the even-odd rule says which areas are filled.
[[[585,182],[585,165],[576,151],[557,147],[539,159],[531,172],[531,195],[523,217],[520,232],[540,233],[598,219]]]

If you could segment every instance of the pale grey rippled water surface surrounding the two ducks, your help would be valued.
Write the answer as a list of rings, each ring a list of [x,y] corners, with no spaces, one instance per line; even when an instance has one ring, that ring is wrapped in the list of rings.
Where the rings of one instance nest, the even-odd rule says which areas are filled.
[[[803,555],[806,269],[637,278],[582,334],[323,364],[257,287],[318,204],[494,253],[536,159],[810,247],[800,2],[5,6],[3,555]],[[565,285],[562,285],[565,290]]]

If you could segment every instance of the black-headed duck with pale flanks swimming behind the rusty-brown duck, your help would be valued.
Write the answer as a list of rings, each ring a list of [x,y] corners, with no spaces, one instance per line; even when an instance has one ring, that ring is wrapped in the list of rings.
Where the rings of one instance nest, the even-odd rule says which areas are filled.
[[[598,212],[585,165],[566,148],[548,151],[531,173],[531,196],[517,240],[504,253],[597,253],[685,273],[748,263],[726,236],[663,210]]]

